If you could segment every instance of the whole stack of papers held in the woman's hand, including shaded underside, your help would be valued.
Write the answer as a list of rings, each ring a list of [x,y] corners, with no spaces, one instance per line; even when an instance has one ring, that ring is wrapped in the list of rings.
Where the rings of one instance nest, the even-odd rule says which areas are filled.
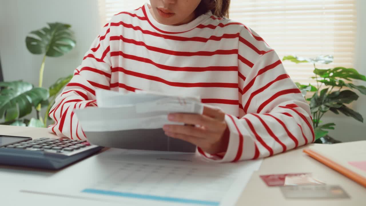
[[[169,113],[202,114],[199,97],[97,90],[98,107],[75,110],[90,143],[124,149],[194,152],[195,146],[165,136]]]

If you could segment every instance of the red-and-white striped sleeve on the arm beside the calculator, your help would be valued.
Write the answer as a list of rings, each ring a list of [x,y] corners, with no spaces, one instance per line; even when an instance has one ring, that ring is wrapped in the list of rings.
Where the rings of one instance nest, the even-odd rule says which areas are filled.
[[[57,96],[49,116],[54,124],[49,125],[50,132],[70,139],[86,139],[79,121],[74,115],[75,108],[97,106],[95,89],[109,89],[111,61],[109,52],[109,25],[101,30],[82,63],[74,71],[74,77]]]

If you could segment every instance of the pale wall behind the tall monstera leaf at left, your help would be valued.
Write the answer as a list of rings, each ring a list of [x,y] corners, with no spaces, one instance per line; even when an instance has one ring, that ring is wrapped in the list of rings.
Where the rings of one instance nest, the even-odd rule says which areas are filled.
[[[59,58],[46,58],[44,86],[72,74],[99,35],[97,0],[0,0],[0,55],[5,81],[23,79],[38,85],[42,55],[31,54],[26,35],[47,22],[71,24],[76,47]]]

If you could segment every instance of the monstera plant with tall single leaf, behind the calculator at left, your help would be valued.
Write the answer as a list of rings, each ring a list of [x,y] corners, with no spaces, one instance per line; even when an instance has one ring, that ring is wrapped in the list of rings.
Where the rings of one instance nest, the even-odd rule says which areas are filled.
[[[32,54],[43,55],[39,72],[38,87],[28,82],[0,82],[0,124],[46,127],[48,113],[55,102],[57,94],[71,80],[72,75],[59,78],[49,88],[42,87],[45,59],[63,56],[71,51],[76,42],[70,25],[64,23],[48,23],[48,26],[34,30],[26,37],[27,49]],[[37,118],[24,119],[36,109]],[[41,110],[44,110],[42,118]],[[22,119],[23,118],[23,119]]]

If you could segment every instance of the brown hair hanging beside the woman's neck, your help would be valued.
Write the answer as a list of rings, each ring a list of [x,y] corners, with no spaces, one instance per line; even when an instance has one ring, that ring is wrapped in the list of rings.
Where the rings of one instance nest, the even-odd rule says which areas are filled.
[[[195,10],[196,16],[212,11],[212,14],[220,18],[229,18],[230,0],[201,0]]]

